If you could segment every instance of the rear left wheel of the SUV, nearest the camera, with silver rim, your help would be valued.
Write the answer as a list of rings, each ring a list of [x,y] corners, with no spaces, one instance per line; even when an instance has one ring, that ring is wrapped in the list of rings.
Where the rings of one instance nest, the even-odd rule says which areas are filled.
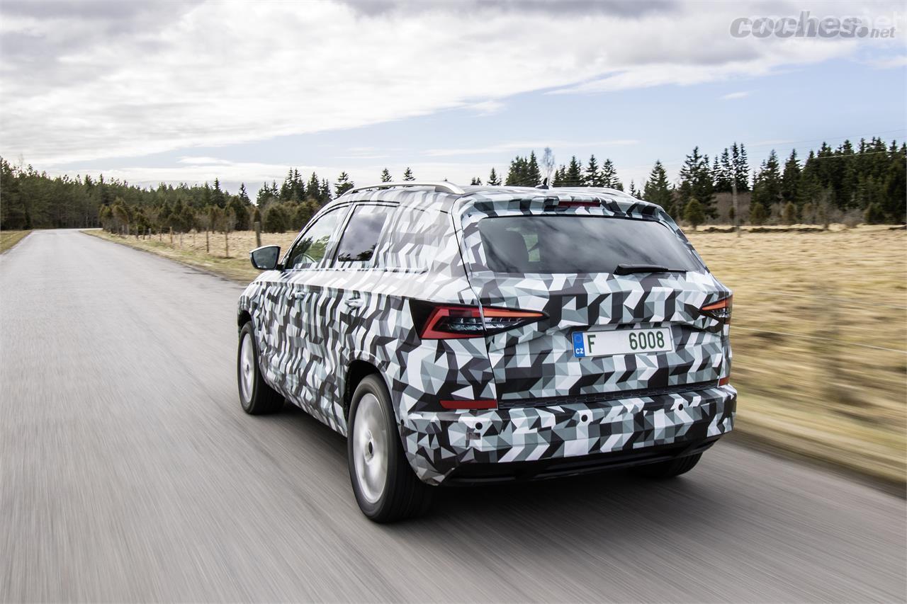
[[[346,457],[362,513],[375,522],[393,522],[428,511],[434,489],[406,461],[390,395],[378,375],[367,375],[356,386],[349,417]]]

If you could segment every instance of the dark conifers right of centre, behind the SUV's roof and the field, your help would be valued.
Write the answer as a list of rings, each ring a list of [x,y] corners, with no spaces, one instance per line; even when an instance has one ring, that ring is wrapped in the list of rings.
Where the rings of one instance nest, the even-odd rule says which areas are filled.
[[[694,147],[672,183],[661,161],[656,161],[649,180],[637,186],[629,183],[629,194],[657,203],[676,219],[694,227],[707,219],[738,220],[763,224],[769,219],[792,224],[828,222],[832,215],[858,214],[868,223],[900,223],[907,214],[907,145],[880,138],[861,140],[854,148],[844,141],[836,149],[823,142],[818,151],[809,151],[801,161],[796,150],[784,164],[775,150],[758,170],[750,170],[746,146],[734,142],[709,157]],[[548,178],[541,173],[535,152],[517,156],[510,164],[505,185],[534,186]],[[493,169],[487,184],[500,184]],[[473,178],[473,185],[481,185]],[[601,163],[595,155],[581,162],[576,156],[551,173],[553,187],[607,187],[624,190],[610,159]],[[745,216],[735,216],[733,206],[718,216],[717,199],[735,190],[746,200]],[[725,196],[727,197],[727,196]]]

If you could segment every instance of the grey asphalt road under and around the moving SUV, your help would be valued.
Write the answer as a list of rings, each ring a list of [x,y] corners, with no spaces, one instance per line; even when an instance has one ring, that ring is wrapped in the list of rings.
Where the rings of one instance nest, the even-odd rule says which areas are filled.
[[[366,521],[340,436],[240,410],[240,289],[77,231],[0,257],[0,599],[907,598],[904,500],[727,442]]]

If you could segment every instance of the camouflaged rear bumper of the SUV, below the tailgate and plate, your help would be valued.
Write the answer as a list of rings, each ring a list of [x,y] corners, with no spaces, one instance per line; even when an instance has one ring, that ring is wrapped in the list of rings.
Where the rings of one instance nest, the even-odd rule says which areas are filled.
[[[599,404],[411,413],[401,435],[424,482],[485,482],[697,453],[731,431],[735,414],[736,390],[721,386]]]

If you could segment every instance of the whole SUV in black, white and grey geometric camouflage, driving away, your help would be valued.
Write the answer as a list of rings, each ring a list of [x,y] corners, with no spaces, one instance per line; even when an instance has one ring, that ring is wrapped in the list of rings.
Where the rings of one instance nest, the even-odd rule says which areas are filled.
[[[621,191],[386,183],[250,256],[243,409],[346,435],[375,521],[441,484],[676,476],[734,423],[731,292]]]

